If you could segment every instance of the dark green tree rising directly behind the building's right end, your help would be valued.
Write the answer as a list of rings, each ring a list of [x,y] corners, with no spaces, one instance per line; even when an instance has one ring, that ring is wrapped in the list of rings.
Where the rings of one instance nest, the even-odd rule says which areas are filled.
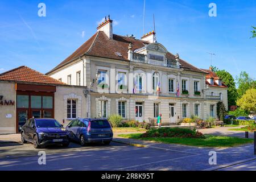
[[[233,76],[225,70],[218,70],[216,74],[228,86],[228,106],[236,105],[237,88]]]

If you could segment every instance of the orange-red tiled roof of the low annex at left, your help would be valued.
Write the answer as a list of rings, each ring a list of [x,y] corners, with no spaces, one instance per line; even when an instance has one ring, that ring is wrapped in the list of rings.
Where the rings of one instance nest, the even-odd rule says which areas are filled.
[[[38,84],[65,85],[65,83],[44,75],[34,69],[21,66],[0,74],[1,81],[30,82]]]

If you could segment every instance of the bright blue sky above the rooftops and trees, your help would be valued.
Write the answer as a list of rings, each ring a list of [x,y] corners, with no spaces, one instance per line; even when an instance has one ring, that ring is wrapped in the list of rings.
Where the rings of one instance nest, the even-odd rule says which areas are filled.
[[[46,3],[46,17],[38,4]],[[209,3],[217,17],[208,15]],[[110,14],[113,32],[143,35],[143,3],[136,1],[0,1],[0,72],[27,65],[46,73],[96,32],[97,23]],[[146,0],[145,30],[153,30],[168,51],[199,68],[213,65],[238,75],[256,78],[256,1],[151,1]]]

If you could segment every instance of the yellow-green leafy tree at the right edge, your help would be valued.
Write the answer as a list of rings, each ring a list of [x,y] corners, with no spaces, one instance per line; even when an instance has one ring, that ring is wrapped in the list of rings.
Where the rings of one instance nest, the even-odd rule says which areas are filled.
[[[237,100],[237,105],[240,106],[241,109],[256,112],[256,89],[247,90],[246,93]]]

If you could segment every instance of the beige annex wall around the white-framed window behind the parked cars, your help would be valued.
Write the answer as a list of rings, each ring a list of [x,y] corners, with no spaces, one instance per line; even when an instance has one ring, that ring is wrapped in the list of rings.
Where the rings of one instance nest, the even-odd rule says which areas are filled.
[[[77,117],[86,117],[86,97],[83,90],[86,90],[83,86],[56,86],[55,119],[64,126],[71,121],[67,118],[67,99],[77,100]]]

